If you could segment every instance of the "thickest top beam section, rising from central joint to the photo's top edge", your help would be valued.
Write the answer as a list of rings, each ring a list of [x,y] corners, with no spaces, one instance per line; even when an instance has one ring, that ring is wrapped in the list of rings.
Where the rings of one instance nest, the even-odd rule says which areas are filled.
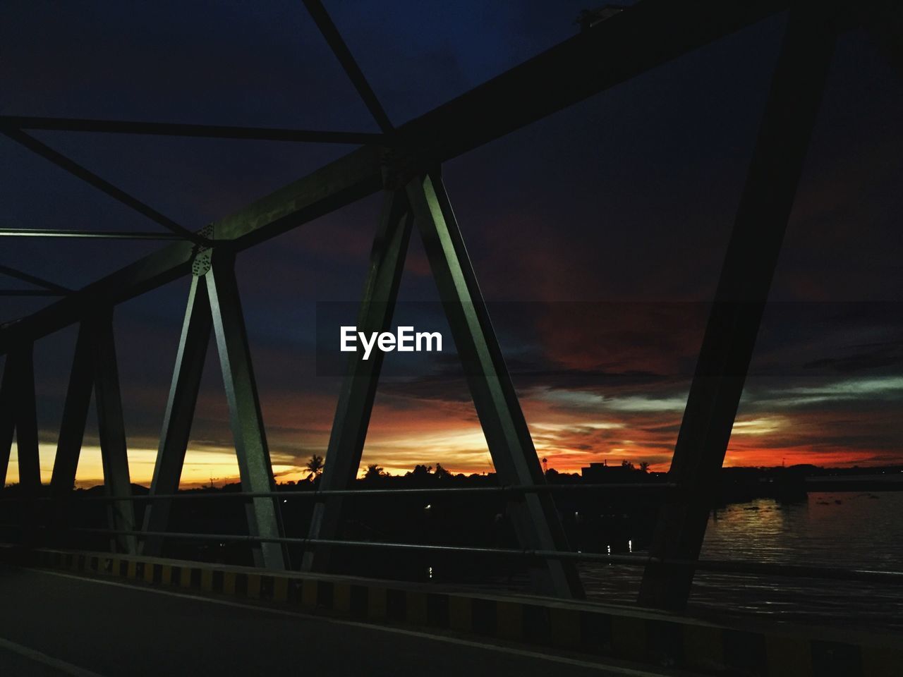
[[[790,0],[640,0],[398,128],[398,144],[451,160],[786,10]]]

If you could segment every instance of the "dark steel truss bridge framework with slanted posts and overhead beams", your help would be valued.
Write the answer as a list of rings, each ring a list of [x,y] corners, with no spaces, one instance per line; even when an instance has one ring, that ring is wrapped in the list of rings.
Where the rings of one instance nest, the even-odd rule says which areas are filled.
[[[0,487],[15,433],[20,484],[35,501],[65,505],[72,491],[90,397],[96,395],[110,524],[105,533],[123,555],[155,557],[165,538],[222,539],[218,534],[168,532],[182,463],[211,334],[222,370],[235,441],[248,535],[256,565],[266,571],[328,572],[336,547],[438,548],[405,543],[340,541],[342,502],[353,490],[381,367],[381,353],[364,361],[352,354],[332,425],[321,485],[296,492],[315,502],[308,533],[284,533],[280,505],[257,397],[247,331],[234,264],[250,247],[375,193],[383,195],[367,280],[358,314],[361,331],[390,327],[405,252],[412,231],[424,249],[438,286],[452,338],[467,374],[479,422],[520,550],[530,561],[535,593],[582,598],[579,559],[623,561],[645,568],[638,605],[680,611],[697,569],[731,569],[825,579],[898,582],[893,574],[700,561],[713,488],[737,412],[744,379],[768,300],[772,274],[794,203],[824,82],[839,33],[864,26],[898,73],[903,74],[901,10],[889,0],[853,4],[808,0],[641,0],[586,28],[573,38],[508,70],[460,97],[395,126],[358,68],[320,0],[304,0],[342,68],[376,120],[379,134],[275,129],[123,120],[2,116],[0,132],[110,198],[135,209],[159,230],[93,232],[4,229],[2,236],[106,237],[167,240],[115,273],[70,290],[17,269],[0,272],[33,283],[34,290],[4,295],[59,297],[0,328],[5,358],[0,390]],[[574,490],[546,485],[517,394],[452,202],[442,184],[442,163],[530,125],[647,70],[753,24],[788,13],[787,28],[759,125],[754,153],[724,255],[721,276],[705,329],[668,483],[658,487],[662,507],[648,557],[578,553],[569,547],[555,512],[554,493]],[[257,199],[205,227],[176,223],[114,182],[90,172],[42,143],[30,132],[157,134],[262,139],[297,143],[356,144],[356,150]],[[148,496],[132,496],[120,398],[113,313],[116,304],[187,278],[188,296],[163,430]],[[65,408],[54,461],[50,497],[38,496],[41,478],[35,413],[33,345],[51,333],[78,325]],[[585,487],[599,489],[600,487]],[[481,489],[461,489],[461,491]],[[496,489],[485,489],[495,491]],[[421,490],[417,490],[421,491]],[[431,490],[423,490],[424,494]],[[442,491],[442,489],[433,489]],[[369,491],[373,500],[392,491]],[[278,496],[285,496],[278,492]],[[135,523],[134,501],[147,501],[144,523]],[[52,511],[51,511],[52,515]],[[32,524],[48,537],[54,521]],[[237,537],[228,537],[237,538]],[[289,562],[288,544],[304,546],[303,561]],[[456,550],[464,550],[458,548]],[[479,549],[470,549],[478,552]]]

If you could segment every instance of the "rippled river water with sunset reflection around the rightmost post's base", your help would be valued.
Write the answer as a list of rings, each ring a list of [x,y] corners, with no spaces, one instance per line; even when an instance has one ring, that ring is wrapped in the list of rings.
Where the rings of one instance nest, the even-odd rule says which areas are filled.
[[[728,505],[710,517],[702,556],[903,570],[903,492],[813,493],[794,504],[762,498]],[[633,603],[640,573],[582,565],[588,596],[614,603]],[[901,630],[903,586],[700,572],[690,610]]]

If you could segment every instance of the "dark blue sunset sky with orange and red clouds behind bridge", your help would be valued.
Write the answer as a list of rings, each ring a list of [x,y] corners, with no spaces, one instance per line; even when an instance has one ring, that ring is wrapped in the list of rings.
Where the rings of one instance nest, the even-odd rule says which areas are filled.
[[[12,2],[0,114],[377,131],[301,3]],[[191,5],[191,6],[186,6]],[[580,0],[326,3],[396,125],[573,35]],[[666,470],[784,26],[777,16],[448,162],[444,177],[540,458]],[[740,403],[728,465],[903,463],[903,85],[842,37]],[[351,146],[34,133],[191,227]],[[339,378],[318,373],[316,303],[356,301],[381,196],[240,255],[278,481],[324,453]],[[156,226],[5,138],[4,227]],[[0,264],[71,287],[160,246],[5,238]],[[4,280],[5,288],[25,287]],[[491,460],[417,235],[401,324],[442,354],[390,354],[364,464]],[[154,468],[188,280],[119,306],[133,481]],[[46,300],[0,300],[0,321]],[[36,346],[50,478],[75,329]],[[338,344],[339,334],[335,331]],[[209,351],[184,485],[237,478]],[[322,372],[322,370],[321,370]],[[15,459],[15,451],[13,453]],[[15,481],[12,463],[7,481]],[[79,483],[101,478],[96,418]]]

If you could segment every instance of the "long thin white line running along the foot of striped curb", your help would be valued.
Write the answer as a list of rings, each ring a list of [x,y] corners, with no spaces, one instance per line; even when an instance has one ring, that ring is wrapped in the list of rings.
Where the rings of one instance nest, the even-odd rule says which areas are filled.
[[[377,632],[389,633],[392,635],[407,635],[410,637],[421,637],[423,639],[432,640],[434,642],[444,642],[445,644],[451,645],[460,645],[460,646],[472,646],[479,649],[488,649],[489,651],[497,651],[501,654],[512,654],[517,656],[526,656],[528,658],[536,658],[542,661],[548,661],[550,663],[563,663],[565,665],[576,665],[578,667],[583,668],[591,668],[592,670],[599,671],[608,671],[612,674],[619,675],[627,675],[627,677],[667,677],[666,672],[647,672],[646,670],[637,670],[636,668],[627,668],[619,665],[603,665],[601,663],[591,663],[589,661],[581,661],[576,658],[568,658],[567,656],[557,656],[553,654],[542,654],[538,651],[530,651],[529,649],[516,649],[511,646],[501,646],[501,645],[492,645],[486,644],[483,642],[476,642],[469,639],[461,639],[460,637],[452,637],[447,635],[431,635],[429,633],[419,632],[417,630],[406,630],[402,627],[391,627],[391,626],[379,626],[373,623],[362,623],[360,621],[351,621],[344,620],[342,618],[333,618],[329,616],[319,616],[315,614],[304,613],[303,611],[294,611],[288,609],[280,609],[273,607],[258,607],[253,604],[242,604],[241,602],[234,602],[228,599],[217,599],[217,598],[208,598],[208,597],[200,597],[199,595],[191,595],[184,592],[174,592],[172,590],[161,590],[157,588],[150,588],[145,586],[136,586],[131,585],[129,583],[120,583],[116,580],[101,580],[101,579],[93,579],[87,578],[84,576],[76,576],[74,574],[69,573],[61,573],[60,571],[50,571],[43,569],[32,569],[36,573],[47,574],[48,576],[58,576],[62,579],[73,579],[73,580],[82,580],[88,583],[97,583],[98,585],[110,585],[115,588],[126,588],[130,590],[139,590],[144,591],[156,595],[165,595],[167,597],[174,598],[183,598],[183,599],[192,599],[198,602],[207,602],[208,604],[219,604],[223,607],[237,607],[250,611],[261,611],[268,614],[275,614],[277,616],[288,616],[288,617],[302,617],[308,618],[312,620],[317,620],[325,623],[331,623],[336,626],[352,626],[352,627],[363,627],[368,630],[376,630]],[[74,666],[73,666],[74,667]],[[79,672],[79,674],[82,674]],[[84,672],[85,677],[88,675],[94,675],[93,672]]]

